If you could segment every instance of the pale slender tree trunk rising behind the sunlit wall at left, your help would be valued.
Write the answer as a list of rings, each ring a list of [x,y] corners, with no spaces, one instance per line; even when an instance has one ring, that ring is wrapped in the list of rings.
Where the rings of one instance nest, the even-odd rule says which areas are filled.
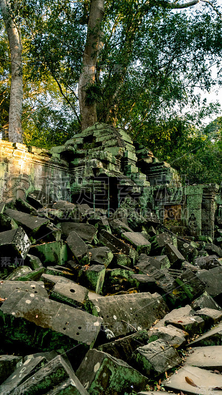
[[[21,33],[10,14],[8,0],[0,0],[11,57],[11,89],[9,105],[8,139],[13,143],[22,143],[22,42]]]

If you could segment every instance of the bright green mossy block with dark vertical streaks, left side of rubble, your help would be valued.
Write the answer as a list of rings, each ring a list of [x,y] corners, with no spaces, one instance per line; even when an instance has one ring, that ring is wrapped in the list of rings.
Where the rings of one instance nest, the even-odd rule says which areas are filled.
[[[64,265],[68,259],[67,245],[63,240],[34,245],[29,252],[37,256],[44,267]]]

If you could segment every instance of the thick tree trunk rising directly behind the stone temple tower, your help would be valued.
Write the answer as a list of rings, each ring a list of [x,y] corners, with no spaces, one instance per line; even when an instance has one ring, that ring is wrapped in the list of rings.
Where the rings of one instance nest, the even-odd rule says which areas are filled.
[[[85,89],[87,86],[95,83],[96,61],[101,48],[101,22],[104,16],[104,2],[105,0],[91,0],[90,3],[87,37],[82,59],[82,71],[78,81],[78,99],[82,117],[82,130],[97,122],[96,102],[91,104],[85,103]]]

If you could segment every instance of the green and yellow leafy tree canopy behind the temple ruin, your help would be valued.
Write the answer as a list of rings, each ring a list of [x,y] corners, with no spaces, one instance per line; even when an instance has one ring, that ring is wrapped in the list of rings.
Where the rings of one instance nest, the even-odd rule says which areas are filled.
[[[198,139],[215,149],[219,143],[197,128],[218,112],[200,89],[222,83],[222,7],[216,0],[192,7],[197,2],[190,8],[185,1],[101,0],[104,15],[90,25],[96,0],[8,0],[23,43],[24,142],[50,147],[80,131],[78,85],[91,40],[94,75],[81,95],[98,121],[125,128],[166,160],[176,147],[182,156],[192,151]],[[0,57],[0,121],[7,128],[11,65],[2,20]],[[184,108],[191,110],[182,116]]]

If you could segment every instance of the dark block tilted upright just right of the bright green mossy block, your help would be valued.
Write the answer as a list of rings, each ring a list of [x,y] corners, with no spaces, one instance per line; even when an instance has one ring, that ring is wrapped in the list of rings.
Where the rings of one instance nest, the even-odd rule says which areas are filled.
[[[77,235],[77,233],[74,231],[70,232],[66,241],[76,261],[81,264],[88,264],[89,249],[85,242]]]

